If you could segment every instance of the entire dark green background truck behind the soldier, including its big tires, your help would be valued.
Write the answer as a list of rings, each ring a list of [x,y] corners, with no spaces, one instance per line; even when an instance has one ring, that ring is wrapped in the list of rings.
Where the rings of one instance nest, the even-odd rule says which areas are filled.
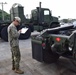
[[[20,39],[27,39],[30,37],[31,31],[34,30],[42,31],[43,29],[53,28],[60,26],[58,18],[52,16],[52,13],[47,8],[41,8],[40,6],[31,11],[31,18],[27,19],[24,16],[24,7],[21,4],[15,3],[10,9],[10,21],[9,22],[0,22],[0,35],[1,38],[7,41],[7,27],[13,21],[13,18],[19,16],[21,18],[21,25],[17,29],[27,27],[28,30],[25,34],[20,35]]]

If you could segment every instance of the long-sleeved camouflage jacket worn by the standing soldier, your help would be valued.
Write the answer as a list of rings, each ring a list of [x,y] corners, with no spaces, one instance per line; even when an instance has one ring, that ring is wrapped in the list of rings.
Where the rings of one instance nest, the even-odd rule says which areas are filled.
[[[11,47],[19,46],[19,35],[20,32],[18,32],[16,26],[13,23],[11,23],[8,26],[8,41]]]

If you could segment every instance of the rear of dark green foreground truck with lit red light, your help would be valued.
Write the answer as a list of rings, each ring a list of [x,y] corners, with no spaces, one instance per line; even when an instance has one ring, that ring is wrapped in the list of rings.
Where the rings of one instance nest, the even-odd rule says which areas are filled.
[[[76,65],[76,29],[73,25],[45,29],[31,36],[33,59],[54,63],[60,56]]]

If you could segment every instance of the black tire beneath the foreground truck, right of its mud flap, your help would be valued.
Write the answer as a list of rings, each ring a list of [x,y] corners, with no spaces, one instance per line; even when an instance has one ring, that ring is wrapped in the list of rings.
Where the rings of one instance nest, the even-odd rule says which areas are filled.
[[[51,48],[47,46],[47,49],[44,51],[44,62],[45,63],[54,63],[59,59],[59,55],[53,53]]]

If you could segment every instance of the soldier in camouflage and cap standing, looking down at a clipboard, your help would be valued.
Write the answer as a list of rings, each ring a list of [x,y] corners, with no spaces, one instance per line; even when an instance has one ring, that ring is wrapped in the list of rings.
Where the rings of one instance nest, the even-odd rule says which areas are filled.
[[[19,17],[15,17],[13,22],[8,26],[8,41],[10,43],[11,52],[12,52],[12,70],[15,73],[23,74],[24,72],[19,69],[20,63],[20,49],[19,49],[19,35],[21,30],[17,31],[16,26],[19,25],[21,19]]]

